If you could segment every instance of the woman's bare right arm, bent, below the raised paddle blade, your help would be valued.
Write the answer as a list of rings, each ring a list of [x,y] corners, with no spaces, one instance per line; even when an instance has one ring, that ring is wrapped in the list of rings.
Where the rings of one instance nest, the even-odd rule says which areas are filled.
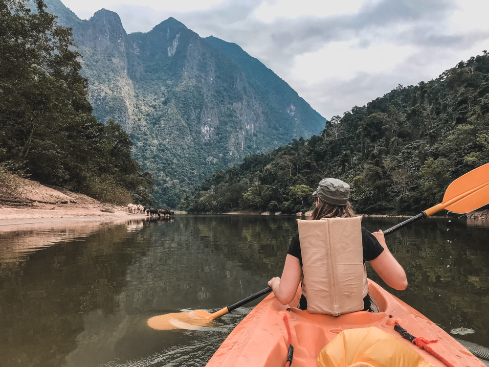
[[[370,260],[370,265],[389,287],[403,291],[407,288],[407,278],[404,269],[387,248],[384,233],[379,229],[378,232],[372,234],[377,238],[384,251],[375,259]]]

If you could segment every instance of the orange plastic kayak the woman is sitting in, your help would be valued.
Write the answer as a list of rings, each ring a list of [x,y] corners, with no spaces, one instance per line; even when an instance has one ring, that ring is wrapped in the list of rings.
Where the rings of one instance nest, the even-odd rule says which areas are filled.
[[[310,314],[297,309],[300,288],[288,306],[282,305],[273,293],[261,301],[229,334],[214,353],[207,367],[281,367],[286,365],[289,334],[284,321],[287,316],[294,348],[294,367],[317,367],[316,359],[338,333],[347,329],[375,326],[416,350],[422,358],[437,367],[441,361],[417,345],[403,339],[394,330],[399,323],[410,334],[438,342],[429,346],[455,367],[486,367],[462,344],[453,339],[434,322],[385,291],[369,279],[370,295],[377,301],[377,314],[358,311],[334,317]],[[288,311],[287,309],[290,308]],[[389,317],[392,315],[392,317]],[[386,351],[387,353],[388,351]]]

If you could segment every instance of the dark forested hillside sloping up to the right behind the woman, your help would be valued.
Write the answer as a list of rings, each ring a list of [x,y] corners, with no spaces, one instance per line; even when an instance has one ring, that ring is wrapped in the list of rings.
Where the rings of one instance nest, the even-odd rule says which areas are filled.
[[[318,136],[206,178],[190,212],[309,210],[326,177],[352,187],[359,213],[412,214],[442,201],[454,179],[489,162],[489,54],[436,80],[398,88],[334,116]]]

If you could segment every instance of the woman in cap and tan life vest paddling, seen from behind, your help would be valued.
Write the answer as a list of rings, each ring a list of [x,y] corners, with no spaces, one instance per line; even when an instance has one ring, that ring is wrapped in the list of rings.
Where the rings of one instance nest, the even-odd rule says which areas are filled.
[[[397,290],[407,287],[404,269],[387,248],[381,230],[370,233],[361,227],[361,218],[348,201],[348,184],[324,179],[312,195],[316,207],[311,220],[298,220],[299,233],[290,242],[282,278],[274,277],[268,285],[286,305],[301,283],[298,308],[311,313],[378,312],[368,293],[365,261]]]

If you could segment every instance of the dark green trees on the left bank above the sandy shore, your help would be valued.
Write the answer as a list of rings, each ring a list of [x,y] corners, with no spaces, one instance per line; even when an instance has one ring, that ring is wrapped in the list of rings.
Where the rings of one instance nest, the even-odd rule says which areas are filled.
[[[71,30],[36,0],[0,0],[0,168],[114,204],[149,203],[153,179],[120,125],[92,115]]]

